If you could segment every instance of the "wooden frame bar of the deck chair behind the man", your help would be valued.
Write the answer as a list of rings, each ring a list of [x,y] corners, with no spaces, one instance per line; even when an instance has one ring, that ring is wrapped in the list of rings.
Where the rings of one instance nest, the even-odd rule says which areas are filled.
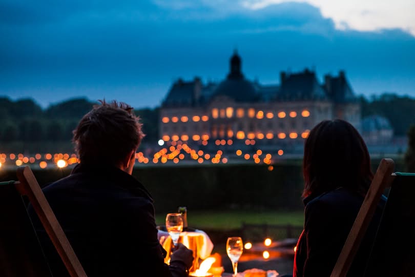
[[[19,182],[15,182],[14,186],[20,195],[28,197],[69,274],[72,277],[86,277],[87,274],[84,268],[82,268],[71,244],[49,206],[32,170],[28,166],[18,167],[17,179]]]

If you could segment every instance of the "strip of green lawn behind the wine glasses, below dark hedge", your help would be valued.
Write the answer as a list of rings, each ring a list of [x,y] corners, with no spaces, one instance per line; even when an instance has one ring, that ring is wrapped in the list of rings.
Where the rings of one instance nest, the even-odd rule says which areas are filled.
[[[194,228],[235,229],[242,222],[251,224],[279,224],[303,226],[303,211],[192,211],[188,210],[188,224]],[[157,225],[165,224],[165,214],[156,214]]]

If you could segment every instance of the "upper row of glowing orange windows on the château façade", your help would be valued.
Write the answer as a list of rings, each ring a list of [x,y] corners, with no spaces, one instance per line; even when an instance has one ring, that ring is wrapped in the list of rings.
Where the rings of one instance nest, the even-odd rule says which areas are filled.
[[[236,110],[236,117],[241,118],[241,117],[244,116],[244,114],[245,114],[244,109],[240,108],[240,109]],[[248,117],[250,117],[250,118],[254,118],[254,117],[256,117],[258,119],[262,119],[264,117],[266,117],[268,119],[274,118],[274,113],[273,112],[267,112],[267,113],[264,113],[263,111],[255,112],[255,109],[253,109],[253,108],[248,109],[247,114],[248,114]],[[232,107],[227,107],[226,109],[220,109],[220,110],[216,109],[216,108],[212,109],[212,117],[213,118],[218,118],[218,117],[232,118],[233,115],[234,115],[234,108],[232,108]],[[277,116],[279,118],[285,118],[287,116],[287,114],[284,111],[280,111],[280,112],[277,113]],[[291,111],[291,112],[288,113],[288,116],[293,117],[293,118],[297,117],[297,112],[296,111]],[[308,110],[303,110],[301,112],[301,116],[302,117],[308,117],[308,116],[310,116],[310,112]],[[192,120],[193,120],[193,122],[199,122],[199,121],[206,122],[206,121],[209,121],[209,116],[208,115],[203,115],[203,116],[194,115],[192,117]],[[173,123],[177,123],[177,122],[179,122],[179,117],[178,116],[172,116],[172,118],[170,119],[169,117],[164,116],[163,118],[161,118],[162,123],[169,123],[170,121],[173,122]],[[183,116],[180,117],[180,121],[181,122],[188,122],[189,117],[186,116],[186,115],[183,115]]]

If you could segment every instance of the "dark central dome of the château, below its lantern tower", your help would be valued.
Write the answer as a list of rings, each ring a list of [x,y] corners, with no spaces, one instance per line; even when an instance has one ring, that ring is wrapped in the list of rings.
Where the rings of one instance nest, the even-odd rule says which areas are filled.
[[[226,79],[216,88],[214,95],[225,95],[236,102],[253,102],[257,100],[254,85],[245,79]]]

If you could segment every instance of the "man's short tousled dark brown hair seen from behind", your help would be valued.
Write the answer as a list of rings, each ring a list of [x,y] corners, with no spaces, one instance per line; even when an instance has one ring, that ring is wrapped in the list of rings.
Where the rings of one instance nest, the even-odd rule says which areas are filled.
[[[81,163],[117,166],[138,148],[144,134],[131,106],[99,102],[73,131],[73,143]]]

